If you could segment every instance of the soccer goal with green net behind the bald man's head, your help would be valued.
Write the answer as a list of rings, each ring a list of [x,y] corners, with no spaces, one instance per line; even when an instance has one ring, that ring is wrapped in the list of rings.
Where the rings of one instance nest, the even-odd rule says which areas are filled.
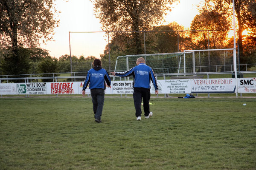
[[[128,71],[136,66],[139,57],[145,59],[155,74],[176,74],[195,72],[194,52],[127,55],[116,58],[115,71]]]

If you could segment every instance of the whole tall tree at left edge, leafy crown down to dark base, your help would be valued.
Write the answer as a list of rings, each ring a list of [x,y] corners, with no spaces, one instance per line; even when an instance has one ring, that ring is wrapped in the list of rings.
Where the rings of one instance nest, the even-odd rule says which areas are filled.
[[[58,26],[53,7],[53,0],[0,0],[0,46],[6,54],[6,74],[26,74],[29,58],[36,61],[47,55],[36,47],[40,39],[51,40]]]

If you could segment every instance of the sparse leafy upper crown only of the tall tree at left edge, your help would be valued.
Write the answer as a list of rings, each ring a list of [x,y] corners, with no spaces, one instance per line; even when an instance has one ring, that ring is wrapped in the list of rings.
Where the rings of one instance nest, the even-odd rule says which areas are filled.
[[[53,0],[1,0],[1,46],[35,47],[40,39],[51,40],[59,23],[53,7]]]

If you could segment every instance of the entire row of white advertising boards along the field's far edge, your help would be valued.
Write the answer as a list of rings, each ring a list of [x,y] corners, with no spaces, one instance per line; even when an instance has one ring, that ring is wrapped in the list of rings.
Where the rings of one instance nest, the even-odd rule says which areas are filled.
[[[159,94],[191,93],[256,93],[256,78],[236,79],[167,79],[158,80]],[[112,81],[106,85],[105,94],[133,94],[133,81]],[[15,94],[82,94],[84,82],[39,82],[39,83],[0,83],[0,95]],[[89,83],[90,86],[90,83]],[[89,86],[85,94],[90,94]],[[150,93],[154,94],[151,82]]]

